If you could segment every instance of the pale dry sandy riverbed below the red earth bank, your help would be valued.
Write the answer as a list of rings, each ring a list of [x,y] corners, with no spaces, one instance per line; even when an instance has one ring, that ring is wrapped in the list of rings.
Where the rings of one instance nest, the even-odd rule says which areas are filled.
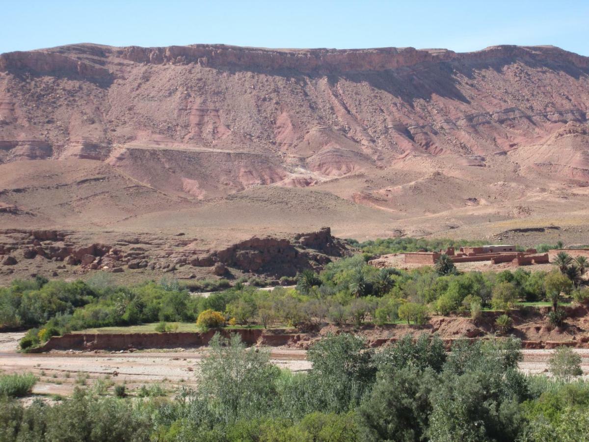
[[[194,387],[198,365],[206,348],[146,350],[128,352],[50,352],[19,354],[16,342],[22,333],[0,334],[0,366],[6,373],[33,372],[39,377],[35,394],[68,395],[79,385],[91,387],[97,380],[125,384],[133,392],[143,384],[160,384],[168,391],[181,385]],[[584,377],[589,378],[589,349],[575,349],[581,355]],[[548,370],[551,350],[523,350],[519,368],[528,374]],[[272,348],[272,362],[280,368],[305,371],[311,368],[306,351]],[[84,380],[85,378],[85,380]]]

